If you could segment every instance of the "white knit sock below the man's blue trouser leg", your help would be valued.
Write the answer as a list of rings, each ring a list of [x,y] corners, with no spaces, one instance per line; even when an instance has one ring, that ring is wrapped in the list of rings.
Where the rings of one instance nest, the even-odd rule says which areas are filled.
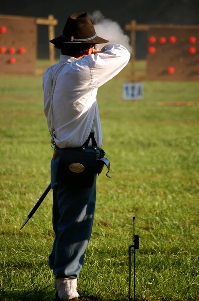
[[[78,298],[77,279],[57,278],[55,279],[55,288],[61,300],[70,300]]]

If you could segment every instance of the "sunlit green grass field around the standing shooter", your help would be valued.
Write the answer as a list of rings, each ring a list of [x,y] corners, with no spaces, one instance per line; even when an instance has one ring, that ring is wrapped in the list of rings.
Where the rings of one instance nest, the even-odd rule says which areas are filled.
[[[98,91],[112,179],[105,172],[98,177],[94,227],[78,290],[93,300],[128,299],[135,216],[137,300],[196,301],[199,106],[158,104],[198,102],[199,86],[145,82],[144,100],[132,103],[122,100],[128,74],[129,66]],[[48,267],[51,192],[19,231],[50,182],[53,150],[42,100],[41,75],[0,77],[0,300],[55,296]]]

